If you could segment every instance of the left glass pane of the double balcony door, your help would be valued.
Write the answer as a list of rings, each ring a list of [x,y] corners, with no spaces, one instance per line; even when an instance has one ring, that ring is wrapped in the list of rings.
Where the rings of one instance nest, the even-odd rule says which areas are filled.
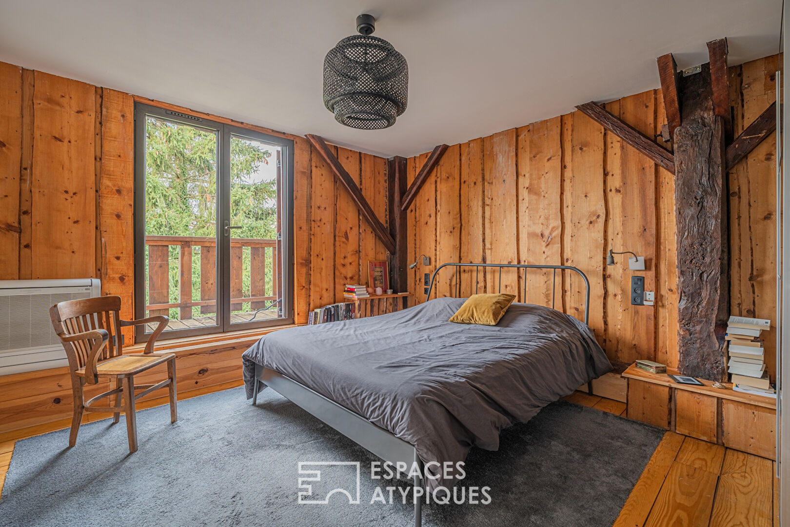
[[[219,326],[219,131],[167,115],[145,115],[144,126],[144,316],[166,315],[167,331]]]

